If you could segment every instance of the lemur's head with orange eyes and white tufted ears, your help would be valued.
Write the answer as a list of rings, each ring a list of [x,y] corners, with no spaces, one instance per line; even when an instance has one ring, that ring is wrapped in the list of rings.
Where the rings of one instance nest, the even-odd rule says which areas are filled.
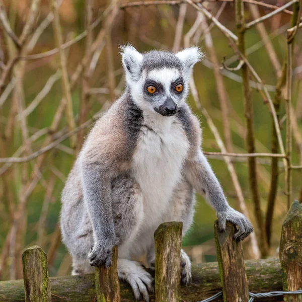
[[[197,47],[178,53],[153,50],[139,53],[122,47],[126,84],[133,101],[143,111],[172,116],[185,102],[193,66],[202,58]]]

